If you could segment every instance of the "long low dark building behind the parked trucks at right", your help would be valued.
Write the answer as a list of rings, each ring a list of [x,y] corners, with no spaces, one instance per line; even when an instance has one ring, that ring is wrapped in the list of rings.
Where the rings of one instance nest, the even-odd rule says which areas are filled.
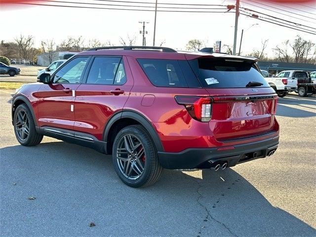
[[[313,72],[316,71],[316,65],[311,63],[283,63],[283,62],[270,62],[259,61],[258,65],[261,70],[266,70],[269,75],[276,75],[285,70],[304,70]]]

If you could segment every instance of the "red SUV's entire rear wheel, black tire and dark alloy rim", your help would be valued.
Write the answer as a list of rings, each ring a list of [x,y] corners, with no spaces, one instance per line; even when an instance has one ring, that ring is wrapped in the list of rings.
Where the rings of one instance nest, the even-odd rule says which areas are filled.
[[[149,186],[161,176],[157,149],[141,125],[131,125],[120,130],[114,140],[112,154],[118,177],[128,186]]]

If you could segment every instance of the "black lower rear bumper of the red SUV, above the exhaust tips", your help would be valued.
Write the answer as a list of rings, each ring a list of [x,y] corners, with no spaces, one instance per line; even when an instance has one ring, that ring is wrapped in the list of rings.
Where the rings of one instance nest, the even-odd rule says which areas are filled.
[[[234,166],[257,158],[265,158],[278,146],[278,136],[251,143],[235,145],[234,149],[193,148],[179,153],[158,152],[159,162],[167,169],[210,168],[214,162],[228,162]],[[221,147],[222,148],[222,147]],[[225,147],[223,147],[225,148]]]

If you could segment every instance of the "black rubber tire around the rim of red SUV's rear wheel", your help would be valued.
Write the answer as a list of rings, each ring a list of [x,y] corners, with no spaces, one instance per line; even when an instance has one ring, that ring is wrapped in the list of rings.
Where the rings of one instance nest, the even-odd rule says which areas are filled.
[[[133,158],[134,158],[133,152],[131,152],[131,153],[123,152],[123,150],[122,150],[123,148],[120,148],[121,142],[124,142],[125,141],[124,138],[126,138],[126,137],[132,137],[134,139],[133,140],[134,143],[136,143],[137,145],[140,144],[140,147],[143,147],[144,162],[142,162],[143,170],[142,170],[140,175],[138,175],[134,171],[135,165],[134,166],[132,165]],[[122,141],[122,139],[123,139],[123,141]],[[137,143],[137,141],[139,143]],[[126,143],[124,143],[124,145],[126,145]],[[118,155],[119,151],[117,149],[119,149],[119,151],[122,151],[121,153],[126,153],[126,154]],[[132,150],[134,150],[134,149],[132,149]],[[125,150],[125,151],[127,151],[127,150]],[[135,149],[135,151],[136,151],[136,149]],[[135,155],[135,151],[134,151],[134,155]],[[139,187],[150,186],[150,185],[154,184],[155,182],[157,182],[162,174],[162,166],[160,165],[159,160],[158,160],[158,153],[157,153],[156,146],[155,146],[152,138],[150,137],[150,135],[146,131],[146,129],[141,125],[130,125],[130,126],[127,126],[127,127],[124,127],[123,129],[121,129],[118,132],[118,134],[114,140],[112,154],[113,154],[112,160],[113,160],[114,168],[118,174],[118,177],[123,181],[123,183],[125,183],[126,185],[128,185],[130,187],[139,188]],[[129,161],[122,161],[122,157],[118,158],[118,156],[126,156],[126,158],[123,158],[123,159],[129,159]],[[131,158],[128,158],[129,156],[131,156]],[[138,161],[141,161],[141,158],[138,158]],[[134,172],[136,174],[134,176],[136,178],[131,179],[131,176],[128,175],[128,177],[127,177],[126,174],[124,174],[126,162],[127,162],[126,169],[128,170],[128,167],[130,167],[129,169],[132,169],[132,172]],[[122,163],[123,163],[123,167],[121,166]],[[130,166],[128,166],[128,164]],[[134,158],[134,164],[137,164],[135,158]]]

